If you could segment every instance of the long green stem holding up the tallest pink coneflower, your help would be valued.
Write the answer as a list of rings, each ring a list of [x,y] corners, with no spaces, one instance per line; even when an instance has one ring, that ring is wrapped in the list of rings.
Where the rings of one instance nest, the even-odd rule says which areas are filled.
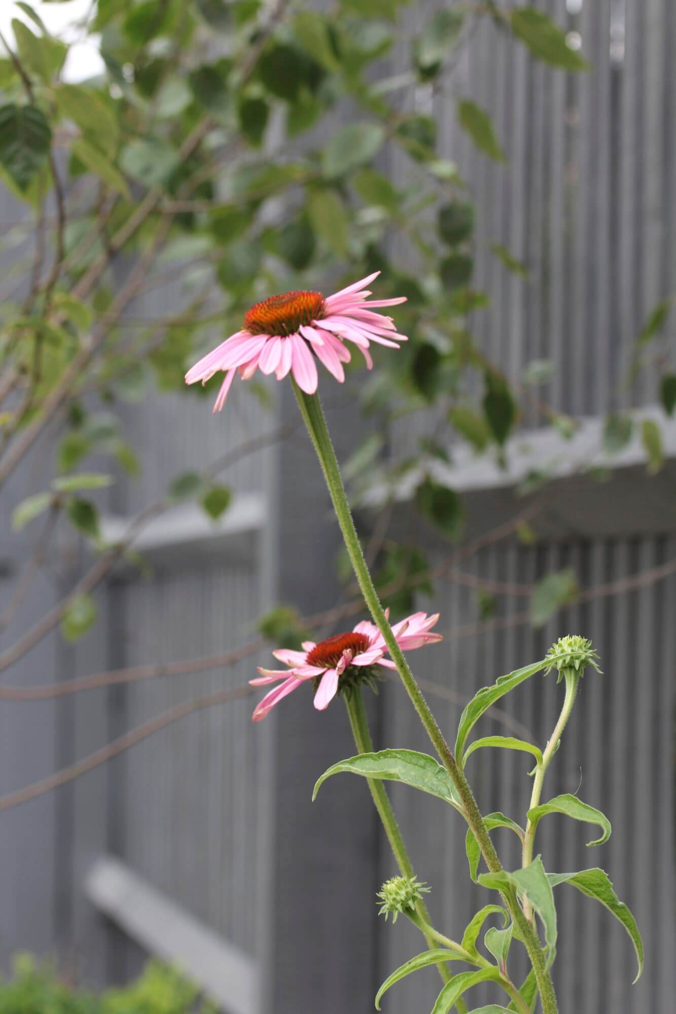
[[[368,606],[371,617],[374,618],[374,623],[383,635],[385,643],[388,646],[388,651],[390,652],[393,662],[397,666],[397,671],[399,672],[401,680],[408,692],[408,696],[411,699],[413,707],[418,713],[420,721],[422,722],[427,735],[429,736],[442,763],[444,764],[444,767],[451,777],[451,781],[453,782],[456,791],[458,792],[460,800],[463,804],[465,818],[479,844],[479,848],[481,849],[481,854],[483,855],[486,865],[491,872],[499,873],[502,869],[502,865],[490,840],[486,825],[483,822],[481,812],[474,798],[474,793],[472,792],[464,773],[458,768],[456,758],[454,757],[453,752],[430,711],[429,705],[425,701],[420,687],[415,681],[413,673],[408,666],[408,662],[404,657],[404,653],[397,644],[397,639],[392,633],[392,628],[388,623],[385,610],[378,597],[378,592],[374,587],[374,582],[371,580],[368,567],[366,566],[366,561],[364,560],[359,538],[354,527],[354,521],[352,520],[349,504],[345,495],[345,489],[340,477],[340,468],[338,467],[336,453],[333,449],[333,444],[331,443],[331,437],[329,435],[329,430],[326,425],[326,419],[324,418],[324,412],[322,411],[319,397],[317,394],[306,394],[297,386],[295,380],[293,380],[293,390],[295,392],[296,401],[306,426],[308,427],[308,432],[310,433],[310,437],[315,445],[315,450],[317,451],[317,456],[319,457],[322,470],[324,472],[324,478],[326,479],[329,493],[333,501],[340,530],[345,541],[345,548],[349,555],[354,575],[359,583],[361,594],[363,595],[364,601]],[[554,987],[537,933],[524,915],[524,911],[517,899],[516,891],[512,889],[509,892],[505,892],[504,897],[515,925],[526,945],[531,964],[533,965],[533,970],[535,972],[542,1000],[543,1014],[558,1014]]]

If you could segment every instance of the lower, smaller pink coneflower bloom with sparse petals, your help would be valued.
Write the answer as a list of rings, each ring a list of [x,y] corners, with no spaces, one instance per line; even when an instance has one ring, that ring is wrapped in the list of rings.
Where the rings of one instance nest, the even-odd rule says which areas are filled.
[[[441,634],[430,634],[429,631],[438,620],[438,612],[428,617],[426,612],[414,612],[392,628],[397,644],[402,651],[411,648],[421,648],[424,644],[433,644],[442,640]],[[355,683],[373,679],[373,665],[383,665],[395,669],[391,658],[385,658],[388,650],[383,635],[378,627],[367,620],[357,624],[353,631],[347,634],[336,634],[320,641],[303,641],[302,651],[291,651],[280,648],[273,651],[275,658],[288,666],[286,669],[263,669],[256,679],[250,679],[253,686],[266,686],[268,683],[279,682],[273,691],[263,698],[254,711],[254,721],[260,722],[275,705],[301,686],[308,679],[316,680],[315,707],[318,711],[328,708],[339,689],[353,686]]]

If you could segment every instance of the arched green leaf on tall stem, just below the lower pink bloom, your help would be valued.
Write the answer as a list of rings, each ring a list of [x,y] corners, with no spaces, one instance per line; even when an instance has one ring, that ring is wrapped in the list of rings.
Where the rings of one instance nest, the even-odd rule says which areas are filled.
[[[322,783],[331,775],[338,775],[341,772],[362,775],[364,778],[404,782],[405,785],[427,792],[430,796],[437,796],[456,809],[460,808],[449,773],[426,753],[404,749],[380,750],[378,753],[360,753],[346,760],[339,760],[318,779],[313,791],[313,801],[317,798]]]

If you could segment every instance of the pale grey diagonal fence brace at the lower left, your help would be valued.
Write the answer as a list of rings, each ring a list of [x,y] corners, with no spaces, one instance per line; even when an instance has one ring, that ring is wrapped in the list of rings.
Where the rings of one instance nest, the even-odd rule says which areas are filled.
[[[89,900],[150,954],[179,967],[228,1014],[257,1014],[259,968],[244,951],[111,856],[85,878]]]

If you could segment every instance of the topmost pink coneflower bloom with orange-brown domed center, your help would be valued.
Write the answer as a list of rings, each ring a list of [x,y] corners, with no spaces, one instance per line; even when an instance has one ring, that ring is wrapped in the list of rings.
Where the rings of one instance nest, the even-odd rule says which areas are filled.
[[[405,335],[397,334],[392,317],[373,309],[405,303],[406,297],[367,301],[370,292],[363,286],[379,275],[380,271],[374,272],[326,299],[321,292],[285,292],[256,303],[245,313],[243,330],[188,370],[186,383],[201,380],[204,384],[214,373],[224,372],[213,408],[220,412],[238,370],[243,380],[257,369],[281,380],[290,370],[298,387],[314,394],[318,383],[315,357],[340,383],[345,379],[343,363],[350,361],[345,342],[356,345],[370,369],[370,342],[398,349],[397,342],[407,341]]]

